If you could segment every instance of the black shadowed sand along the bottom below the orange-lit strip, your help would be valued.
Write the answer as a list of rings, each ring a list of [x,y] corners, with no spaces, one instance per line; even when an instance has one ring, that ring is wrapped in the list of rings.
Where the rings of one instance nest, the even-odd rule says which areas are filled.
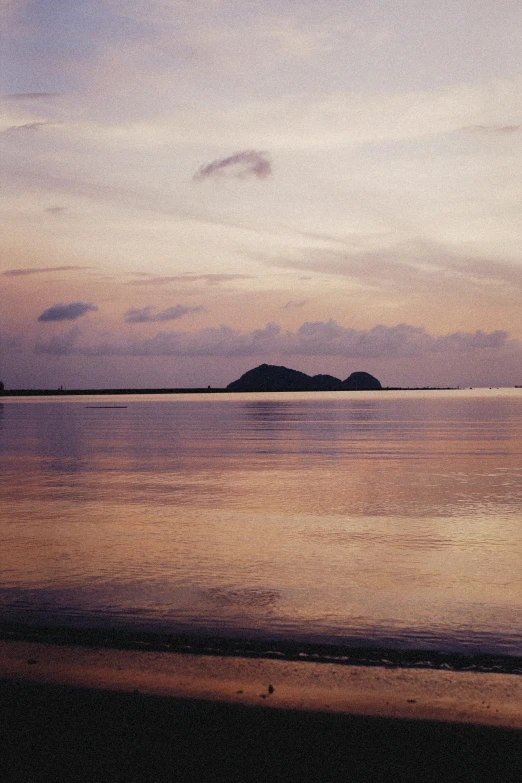
[[[519,732],[3,682],[2,779],[520,783]]]

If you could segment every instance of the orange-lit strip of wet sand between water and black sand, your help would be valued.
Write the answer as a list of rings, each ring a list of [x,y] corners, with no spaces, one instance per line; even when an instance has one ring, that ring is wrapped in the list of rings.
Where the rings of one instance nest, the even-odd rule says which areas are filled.
[[[0,641],[0,678],[522,731],[522,677]]]

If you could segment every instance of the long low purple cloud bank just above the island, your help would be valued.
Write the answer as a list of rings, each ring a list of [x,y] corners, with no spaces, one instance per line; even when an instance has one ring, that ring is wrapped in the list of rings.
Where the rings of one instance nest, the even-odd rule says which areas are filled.
[[[70,333],[67,333],[70,335]],[[102,340],[77,344],[65,337],[38,344],[37,352],[68,353],[86,356],[250,356],[274,361],[290,356],[330,356],[346,359],[421,358],[434,354],[457,355],[488,350],[522,354],[522,345],[502,330],[493,332],[453,332],[435,336],[424,328],[410,324],[372,329],[351,329],[330,319],[306,322],[295,331],[283,331],[275,323],[263,329],[240,332],[229,326],[201,329],[196,332],[158,332],[150,338]],[[58,351],[59,349],[59,351]]]

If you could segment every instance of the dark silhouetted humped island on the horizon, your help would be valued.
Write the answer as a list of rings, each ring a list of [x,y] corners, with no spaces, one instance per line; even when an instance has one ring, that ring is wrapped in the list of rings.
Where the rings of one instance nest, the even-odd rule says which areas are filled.
[[[237,381],[227,386],[227,391],[373,391],[382,389],[380,381],[367,372],[353,372],[341,381],[333,375],[306,375],[299,370],[260,364],[248,370]]]

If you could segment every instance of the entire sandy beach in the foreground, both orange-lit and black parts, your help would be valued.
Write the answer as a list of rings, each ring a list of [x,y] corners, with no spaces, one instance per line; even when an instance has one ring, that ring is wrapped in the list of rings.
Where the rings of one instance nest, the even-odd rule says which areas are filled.
[[[6,781],[522,780],[522,677],[0,642]]]

